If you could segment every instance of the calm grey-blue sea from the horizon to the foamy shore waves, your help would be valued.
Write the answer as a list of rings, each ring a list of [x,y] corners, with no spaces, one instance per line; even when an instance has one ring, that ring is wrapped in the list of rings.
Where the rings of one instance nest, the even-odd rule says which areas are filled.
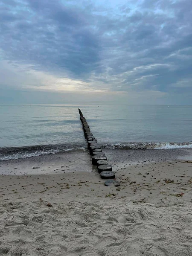
[[[84,150],[78,108],[104,148],[192,148],[192,106],[0,105],[0,160]]]

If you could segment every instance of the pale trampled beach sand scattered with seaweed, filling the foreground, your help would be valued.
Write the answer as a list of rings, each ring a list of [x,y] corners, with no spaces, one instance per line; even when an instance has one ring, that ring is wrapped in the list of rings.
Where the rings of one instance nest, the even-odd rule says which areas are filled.
[[[125,164],[119,187],[86,157],[70,173],[61,162],[55,174],[0,176],[0,255],[192,256],[192,161]]]

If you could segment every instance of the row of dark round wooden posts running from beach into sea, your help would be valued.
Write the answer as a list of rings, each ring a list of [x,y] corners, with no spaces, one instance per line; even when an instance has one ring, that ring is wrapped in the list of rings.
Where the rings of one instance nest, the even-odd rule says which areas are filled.
[[[96,138],[91,133],[90,127],[80,109],[79,114],[83,125],[84,136],[87,140],[87,148],[92,158],[92,164],[97,166],[102,179],[114,179],[115,173],[112,171],[113,167],[108,163],[105,153],[102,151],[101,146],[99,146]]]

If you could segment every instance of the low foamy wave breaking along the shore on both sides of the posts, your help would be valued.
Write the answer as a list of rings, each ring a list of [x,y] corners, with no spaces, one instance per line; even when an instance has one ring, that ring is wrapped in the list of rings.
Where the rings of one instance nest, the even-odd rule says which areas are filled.
[[[192,148],[192,142],[126,142],[101,144],[102,148],[108,149],[174,149]],[[87,145],[34,145],[26,147],[0,148],[0,161],[15,160],[26,157],[56,154],[59,152],[85,151]]]

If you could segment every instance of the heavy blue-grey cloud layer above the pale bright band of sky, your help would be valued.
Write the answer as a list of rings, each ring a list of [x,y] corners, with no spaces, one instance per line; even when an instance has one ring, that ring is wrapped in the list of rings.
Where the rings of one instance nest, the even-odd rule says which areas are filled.
[[[95,89],[192,91],[191,0],[99,3],[1,1],[3,58]]]

